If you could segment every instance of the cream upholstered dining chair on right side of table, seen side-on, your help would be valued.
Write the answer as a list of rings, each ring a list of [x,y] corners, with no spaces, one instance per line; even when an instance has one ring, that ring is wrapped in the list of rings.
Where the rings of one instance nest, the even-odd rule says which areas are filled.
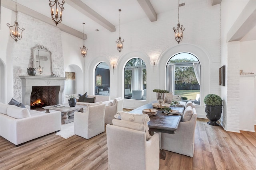
[[[162,133],[161,149],[193,157],[197,114],[195,108],[191,107],[185,109],[184,114],[186,110],[189,110],[190,113],[192,110],[192,116],[190,115],[191,119],[188,120],[188,117],[183,117],[183,119],[186,119],[188,121],[180,122],[175,134]]]

